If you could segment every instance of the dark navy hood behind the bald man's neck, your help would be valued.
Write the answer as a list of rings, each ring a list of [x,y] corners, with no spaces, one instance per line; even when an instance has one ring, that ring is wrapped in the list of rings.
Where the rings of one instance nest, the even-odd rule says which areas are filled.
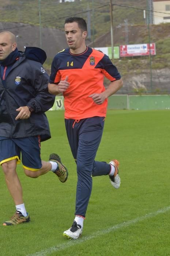
[[[25,52],[20,52],[20,56],[25,56],[26,59],[34,60],[43,64],[47,58],[44,50],[38,47],[26,47]]]

